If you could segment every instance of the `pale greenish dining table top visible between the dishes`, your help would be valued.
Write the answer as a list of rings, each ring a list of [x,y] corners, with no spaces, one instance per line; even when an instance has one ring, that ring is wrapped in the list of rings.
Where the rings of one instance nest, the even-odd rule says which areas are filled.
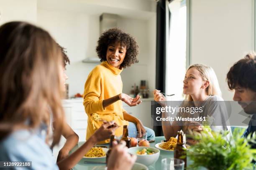
[[[155,145],[157,143],[161,143],[161,140],[165,140],[164,136],[158,136],[155,138],[155,142],[150,143],[150,147],[155,147]],[[77,146],[75,146],[71,153],[74,152],[75,150],[77,150],[77,148],[79,148],[81,145],[84,144],[83,142],[79,142],[77,144]],[[107,146],[109,147],[109,144],[103,144],[103,145],[97,145],[97,146]],[[148,170],[161,170],[161,160],[164,158],[174,158],[174,152],[173,151],[164,151],[164,150],[160,150],[160,156],[158,158],[158,160],[156,161],[156,163],[149,165],[148,166]],[[84,161],[90,161],[90,163],[88,162],[84,162]],[[74,166],[73,170],[104,170],[106,167],[106,164],[102,164],[102,163],[92,163],[93,161],[97,161],[97,162],[105,162],[106,158],[101,158],[100,160],[97,159],[85,159],[82,158],[79,163],[77,163],[77,165]]]

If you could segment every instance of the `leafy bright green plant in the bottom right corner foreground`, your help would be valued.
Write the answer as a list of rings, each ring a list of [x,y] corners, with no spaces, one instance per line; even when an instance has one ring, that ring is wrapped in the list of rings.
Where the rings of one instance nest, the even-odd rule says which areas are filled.
[[[203,130],[200,134],[194,134],[193,138],[198,143],[187,152],[192,162],[188,169],[205,167],[208,170],[253,170],[252,161],[256,160],[256,149],[252,149],[250,143],[256,143],[255,133],[242,138],[243,131],[235,130],[229,141],[226,138],[228,133],[209,133],[209,130]]]

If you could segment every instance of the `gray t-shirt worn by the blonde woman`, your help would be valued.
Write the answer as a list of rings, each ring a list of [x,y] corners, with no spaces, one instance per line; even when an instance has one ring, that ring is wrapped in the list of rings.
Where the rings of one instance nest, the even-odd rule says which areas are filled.
[[[183,101],[181,107],[195,107],[192,101]],[[198,107],[202,107],[202,112],[195,112],[194,114],[188,112],[178,112],[177,116],[181,117],[207,117],[213,118],[210,128],[214,132],[220,133],[223,130],[229,130],[229,137],[232,137],[231,128],[228,122],[228,112],[223,99],[219,96],[213,95],[207,97],[205,101],[202,101]],[[198,121],[203,125],[202,121]],[[186,129],[186,122],[178,122],[182,129]]]

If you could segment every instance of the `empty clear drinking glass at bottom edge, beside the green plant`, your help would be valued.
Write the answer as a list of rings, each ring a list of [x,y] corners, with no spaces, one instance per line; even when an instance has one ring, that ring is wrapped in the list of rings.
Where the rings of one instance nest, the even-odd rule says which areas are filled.
[[[162,170],[184,170],[184,161],[176,158],[164,158],[161,160]]]

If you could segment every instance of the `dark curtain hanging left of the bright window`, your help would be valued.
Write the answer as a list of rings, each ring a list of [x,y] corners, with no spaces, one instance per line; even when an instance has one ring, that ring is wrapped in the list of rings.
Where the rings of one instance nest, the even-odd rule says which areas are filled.
[[[165,91],[166,62],[166,9],[165,0],[159,0],[156,6],[156,89]],[[163,136],[161,126],[153,127],[156,136]]]

